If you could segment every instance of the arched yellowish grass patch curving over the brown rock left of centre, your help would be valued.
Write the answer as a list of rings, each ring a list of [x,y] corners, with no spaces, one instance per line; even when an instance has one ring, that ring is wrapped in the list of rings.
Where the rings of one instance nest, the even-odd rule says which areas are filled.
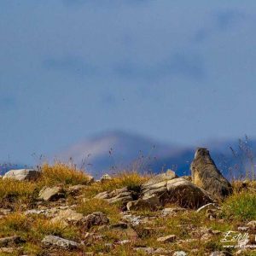
[[[103,212],[107,214],[108,218],[113,223],[120,219],[120,212],[117,206],[110,205],[107,201],[96,198],[88,199],[79,204],[77,211],[84,215],[88,215],[92,212]]]

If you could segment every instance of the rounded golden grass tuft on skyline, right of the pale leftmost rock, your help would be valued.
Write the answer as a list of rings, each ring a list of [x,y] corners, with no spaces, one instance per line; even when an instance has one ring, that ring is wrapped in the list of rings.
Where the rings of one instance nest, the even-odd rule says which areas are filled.
[[[55,162],[53,166],[44,164],[41,166],[42,176],[40,183],[44,186],[54,185],[77,185],[88,184],[90,177],[75,165],[68,165],[61,162]]]

